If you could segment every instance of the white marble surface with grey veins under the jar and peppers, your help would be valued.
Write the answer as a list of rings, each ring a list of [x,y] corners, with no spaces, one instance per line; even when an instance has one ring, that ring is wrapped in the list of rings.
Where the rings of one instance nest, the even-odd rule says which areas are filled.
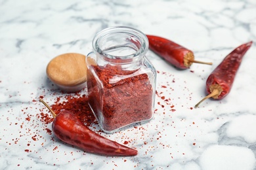
[[[47,63],[66,52],[88,54],[94,35],[114,25],[171,39],[213,62],[179,71],[147,53],[159,71],[158,93],[169,100],[156,97],[158,110],[148,124],[101,133],[131,141],[126,145],[139,151],[131,158],[70,147],[37,118],[48,113],[40,95],[49,104],[61,95],[47,79]],[[0,169],[256,169],[255,43],[230,94],[193,108],[211,71],[248,41],[256,42],[255,0],[0,0]]]

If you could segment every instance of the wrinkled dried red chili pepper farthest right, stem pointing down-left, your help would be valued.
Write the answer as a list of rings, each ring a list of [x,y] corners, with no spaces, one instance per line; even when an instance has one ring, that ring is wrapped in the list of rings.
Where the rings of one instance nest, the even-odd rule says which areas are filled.
[[[213,70],[206,80],[206,90],[209,93],[195,107],[198,107],[205,99],[223,99],[231,90],[234,77],[240,67],[245,52],[253,42],[247,42],[235,48],[223,61]]]

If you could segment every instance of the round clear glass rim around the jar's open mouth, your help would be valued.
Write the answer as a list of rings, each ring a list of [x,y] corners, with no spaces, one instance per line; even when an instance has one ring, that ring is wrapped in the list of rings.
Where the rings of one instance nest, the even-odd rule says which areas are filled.
[[[125,55],[125,56],[113,56],[112,54],[108,54],[107,52],[104,52],[100,48],[99,42],[104,37],[113,35],[114,33],[127,33],[129,35],[132,35],[133,37],[137,38],[140,41],[140,48],[136,50],[133,54]],[[103,56],[105,60],[116,63],[115,58],[121,58],[122,63],[131,63],[132,61],[135,61],[137,59],[142,58],[146,52],[148,51],[148,37],[140,31],[139,29],[135,29],[134,27],[129,26],[113,26],[113,27],[107,27],[106,29],[102,29],[102,31],[98,32],[95,37],[93,38],[93,50],[96,54],[100,54],[100,56]],[[119,63],[119,62],[117,62]]]

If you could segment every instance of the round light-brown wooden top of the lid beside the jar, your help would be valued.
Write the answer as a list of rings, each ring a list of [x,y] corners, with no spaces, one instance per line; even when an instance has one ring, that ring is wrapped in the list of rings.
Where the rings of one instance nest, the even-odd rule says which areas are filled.
[[[75,86],[87,80],[87,65],[82,54],[68,53],[56,56],[47,65],[47,76],[62,86]]]

